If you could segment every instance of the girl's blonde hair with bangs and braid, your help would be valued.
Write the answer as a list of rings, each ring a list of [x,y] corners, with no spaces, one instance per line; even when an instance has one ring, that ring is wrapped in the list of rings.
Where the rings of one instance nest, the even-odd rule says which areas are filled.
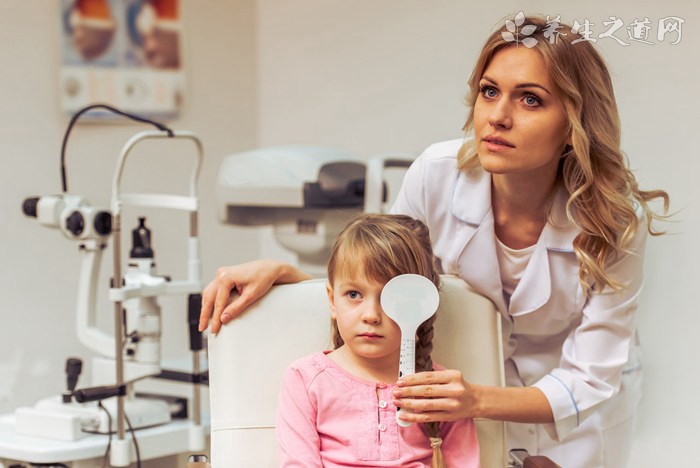
[[[328,281],[336,276],[365,277],[381,284],[391,278],[413,273],[428,278],[440,287],[428,228],[404,215],[361,214],[353,219],[336,238],[328,260]],[[435,315],[416,332],[416,372],[433,370]],[[332,322],[333,345],[344,344],[338,324]],[[433,468],[446,468],[442,458],[439,423],[424,425],[433,447]]]

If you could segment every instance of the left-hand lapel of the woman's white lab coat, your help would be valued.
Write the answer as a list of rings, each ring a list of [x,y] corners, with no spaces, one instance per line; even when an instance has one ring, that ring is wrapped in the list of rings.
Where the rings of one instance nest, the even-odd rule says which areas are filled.
[[[491,174],[463,172],[452,197],[453,216],[462,221],[458,231],[463,243],[457,265],[460,276],[505,311],[503,286],[496,256],[496,235],[491,210]]]

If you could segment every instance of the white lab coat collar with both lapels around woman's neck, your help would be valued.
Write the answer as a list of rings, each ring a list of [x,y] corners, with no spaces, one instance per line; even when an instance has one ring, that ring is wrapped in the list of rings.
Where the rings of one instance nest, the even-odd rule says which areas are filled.
[[[465,242],[458,262],[460,275],[510,315],[523,315],[542,307],[551,295],[548,252],[573,252],[573,241],[580,232],[566,217],[566,200],[567,193],[560,188],[551,221],[545,225],[507,306],[496,254],[491,174],[483,170],[461,173],[450,207],[453,216],[465,223],[459,233]]]

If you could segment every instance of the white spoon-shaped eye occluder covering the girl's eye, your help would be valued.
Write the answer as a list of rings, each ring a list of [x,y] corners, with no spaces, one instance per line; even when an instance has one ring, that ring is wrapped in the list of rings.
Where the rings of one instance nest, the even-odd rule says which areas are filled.
[[[401,355],[399,358],[399,378],[416,373],[416,330],[435,314],[440,305],[437,288],[425,276],[399,275],[386,283],[380,297],[384,312],[401,329]],[[412,423],[399,419],[403,411],[396,411],[399,426],[408,427]]]

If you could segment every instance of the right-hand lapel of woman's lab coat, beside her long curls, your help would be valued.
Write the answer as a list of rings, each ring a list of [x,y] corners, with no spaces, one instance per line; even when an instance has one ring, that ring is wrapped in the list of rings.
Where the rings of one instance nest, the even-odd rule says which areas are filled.
[[[566,191],[555,195],[550,220],[532,252],[518,286],[510,299],[509,312],[513,316],[528,314],[547,303],[552,293],[549,268],[550,252],[573,252],[573,242],[580,232],[566,217]]]

